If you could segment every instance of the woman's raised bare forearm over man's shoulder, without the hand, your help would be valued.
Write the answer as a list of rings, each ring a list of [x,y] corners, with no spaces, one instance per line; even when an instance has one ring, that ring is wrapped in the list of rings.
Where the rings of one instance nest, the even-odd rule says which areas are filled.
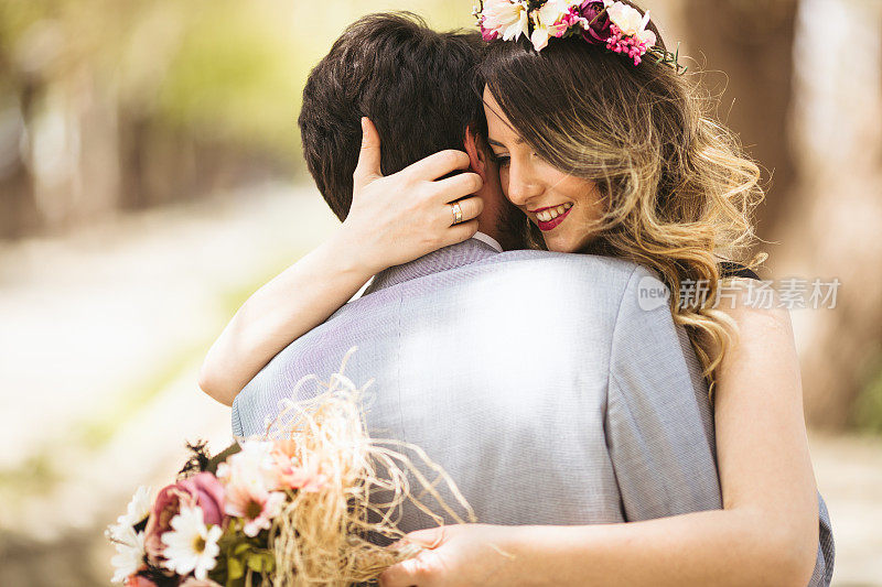
[[[258,290],[214,343],[200,388],[230,405],[236,394],[291,341],[327,319],[374,274],[341,230]]]

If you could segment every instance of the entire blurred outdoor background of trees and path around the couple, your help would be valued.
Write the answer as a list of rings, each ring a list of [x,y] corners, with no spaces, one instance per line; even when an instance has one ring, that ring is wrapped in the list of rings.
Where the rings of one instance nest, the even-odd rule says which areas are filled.
[[[882,2],[644,0],[763,169],[838,585],[882,585]],[[183,441],[260,284],[337,226],[305,173],[310,68],[358,17],[471,28],[471,0],[0,0],[0,584],[104,585],[100,531]]]

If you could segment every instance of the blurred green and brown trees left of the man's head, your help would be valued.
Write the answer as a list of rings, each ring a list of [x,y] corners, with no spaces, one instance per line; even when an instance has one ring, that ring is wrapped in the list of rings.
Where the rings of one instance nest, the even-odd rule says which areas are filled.
[[[463,24],[462,4],[406,8],[445,26]],[[0,238],[297,177],[305,76],[348,22],[384,8],[0,1]]]

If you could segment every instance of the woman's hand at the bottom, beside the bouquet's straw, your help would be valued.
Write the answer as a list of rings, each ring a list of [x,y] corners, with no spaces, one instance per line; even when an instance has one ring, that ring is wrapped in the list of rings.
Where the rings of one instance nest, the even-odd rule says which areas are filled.
[[[380,587],[523,585],[527,577],[517,573],[513,553],[520,528],[455,524],[411,532],[401,540],[426,550],[387,568]]]

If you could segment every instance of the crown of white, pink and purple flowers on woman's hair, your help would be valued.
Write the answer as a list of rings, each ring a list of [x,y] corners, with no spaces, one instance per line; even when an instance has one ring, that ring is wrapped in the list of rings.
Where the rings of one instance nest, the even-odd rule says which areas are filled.
[[[655,63],[668,65],[678,74],[686,67],[677,63],[677,53],[656,46],[656,36],[646,29],[649,11],[641,15],[634,7],[613,0],[481,0],[472,12],[477,18],[484,41],[502,37],[529,39],[536,51],[551,37],[581,35],[592,45],[605,45],[624,53],[639,65],[648,53]],[[682,72],[680,72],[682,68]]]

